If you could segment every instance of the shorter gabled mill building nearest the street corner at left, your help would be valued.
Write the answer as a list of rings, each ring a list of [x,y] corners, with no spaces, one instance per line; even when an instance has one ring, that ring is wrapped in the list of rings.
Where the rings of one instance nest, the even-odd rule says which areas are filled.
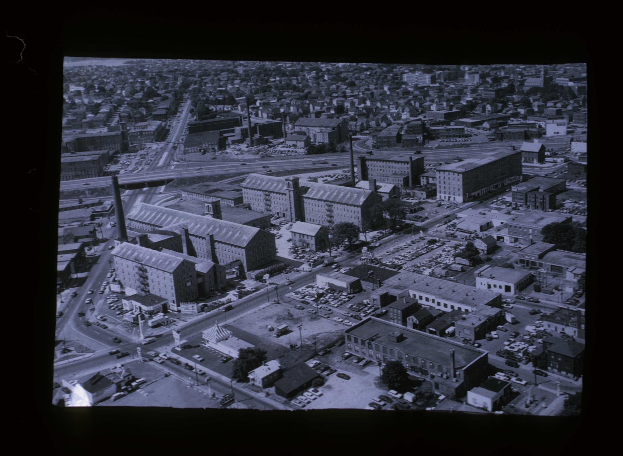
[[[157,295],[169,302],[169,310],[198,297],[193,262],[140,245],[123,242],[112,252],[117,280],[126,295]]]

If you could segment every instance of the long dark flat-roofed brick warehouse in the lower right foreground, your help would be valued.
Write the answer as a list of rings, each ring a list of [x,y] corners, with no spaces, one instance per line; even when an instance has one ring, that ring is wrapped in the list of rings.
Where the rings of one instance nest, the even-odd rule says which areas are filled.
[[[486,378],[486,351],[376,317],[346,329],[345,339],[348,353],[380,363],[401,361],[437,394],[460,397]]]

